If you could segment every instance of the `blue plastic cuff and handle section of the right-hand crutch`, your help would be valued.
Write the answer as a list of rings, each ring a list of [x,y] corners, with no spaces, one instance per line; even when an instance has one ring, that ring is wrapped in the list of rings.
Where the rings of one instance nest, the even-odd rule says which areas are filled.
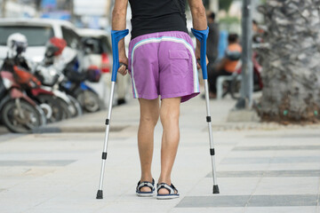
[[[196,30],[191,28],[193,35],[196,36],[196,39],[201,43],[201,51],[200,51],[200,65],[203,71],[204,80],[208,79],[207,67],[206,67],[206,40],[209,34],[209,28],[204,30]]]

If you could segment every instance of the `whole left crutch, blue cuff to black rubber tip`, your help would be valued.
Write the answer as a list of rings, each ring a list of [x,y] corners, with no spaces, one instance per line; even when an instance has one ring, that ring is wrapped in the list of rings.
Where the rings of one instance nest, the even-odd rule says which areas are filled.
[[[120,66],[119,64],[119,50],[118,50],[118,43],[121,39],[127,36],[129,33],[128,29],[124,30],[112,30],[111,31],[111,40],[112,40],[112,54],[113,54],[113,66],[112,66],[112,77],[111,77],[111,91],[110,91],[110,100],[108,106],[108,118],[106,120],[106,134],[105,134],[105,142],[103,146],[103,153],[102,153],[102,164],[101,164],[101,172],[100,172],[100,184],[99,190],[97,193],[97,199],[103,199],[103,192],[102,192],[102,185],[103,185],[103,176],[105,170],[105,164],[107,160],[107,149],[108,149],[108,134],[110,129],[110,119],[111,119],[111,111],[112,111],[112,102],[114,97],[115,91],[115,84],[116,84],[116,74],[117,70]]]

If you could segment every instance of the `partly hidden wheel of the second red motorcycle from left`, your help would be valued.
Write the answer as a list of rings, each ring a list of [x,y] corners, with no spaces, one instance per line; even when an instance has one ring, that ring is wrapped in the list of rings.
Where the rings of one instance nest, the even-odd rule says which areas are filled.
[[[47,118],[48,122],[59,122],[62,120],[63,109],[56,97],[50,95],[39,95],[38,99],[42,104],[47,104],[52,108],[52,116]]]

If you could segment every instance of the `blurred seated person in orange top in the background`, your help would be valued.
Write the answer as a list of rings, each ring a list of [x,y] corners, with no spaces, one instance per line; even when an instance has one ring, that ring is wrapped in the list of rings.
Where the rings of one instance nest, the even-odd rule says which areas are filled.
[[[208,82],[209,82],[209,96],[211,99],[216,98],[217,92],[217,78],[220,75],[232,75],[236,71],[236,67],[239,63],[241,57],[242,48],[239,44],[239,36],[236,34],[230,34],[228,36],[228,49],[225,56],[219,64],[213,67],[213,70],[208,72]]]

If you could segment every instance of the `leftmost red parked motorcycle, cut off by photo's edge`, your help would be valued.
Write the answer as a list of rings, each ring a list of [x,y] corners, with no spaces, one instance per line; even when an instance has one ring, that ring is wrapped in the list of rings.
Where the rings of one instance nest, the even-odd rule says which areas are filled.
[[[31,75],[21,72],[0,72],[0,118],[2,123],[17,133],[28,133],[46,123],[43,109],[30,99],[22,90],[16,77],[20,76],[20,83],[29,86],[38,85],[38,81]]]

